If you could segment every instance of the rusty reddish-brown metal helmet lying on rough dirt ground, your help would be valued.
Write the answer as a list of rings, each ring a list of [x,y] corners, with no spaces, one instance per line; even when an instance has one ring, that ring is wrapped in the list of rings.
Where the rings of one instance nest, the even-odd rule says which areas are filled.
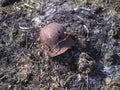
[[[40,41],[51,57],[60,55],[74,46],[74,41],[59,23],[50,23],[40,31]]]

